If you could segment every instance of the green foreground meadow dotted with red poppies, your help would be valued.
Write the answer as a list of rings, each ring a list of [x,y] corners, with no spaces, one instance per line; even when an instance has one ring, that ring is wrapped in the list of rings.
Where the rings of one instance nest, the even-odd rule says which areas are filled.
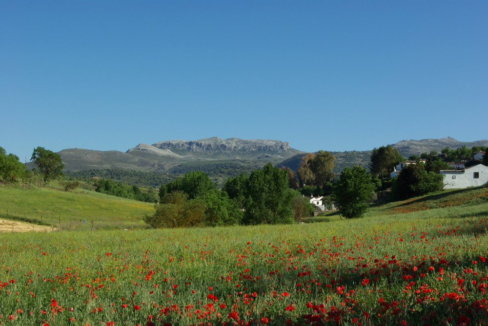
[[[486,325],[487,203],[476,188],[356,220],[3,233],[0,323]]]

